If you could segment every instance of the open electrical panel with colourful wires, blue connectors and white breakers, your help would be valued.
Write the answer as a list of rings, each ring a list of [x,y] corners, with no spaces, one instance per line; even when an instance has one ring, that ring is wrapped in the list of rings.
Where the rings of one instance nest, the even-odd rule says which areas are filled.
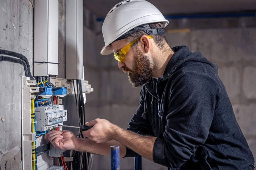
[[[53,80],[53,79],[52,79]],[[65,81],[64,81],[65,82]],[[67,95],[70,84],[55,86],[50,77],[38,76],[36,80],[22,77],[22,163],[25,170],[63,169],[57,165],[58,159],[64,163],[63,152],[44,139],[48,131],[62,130],[67,121],[67,110],[60,104],[60,97]]]

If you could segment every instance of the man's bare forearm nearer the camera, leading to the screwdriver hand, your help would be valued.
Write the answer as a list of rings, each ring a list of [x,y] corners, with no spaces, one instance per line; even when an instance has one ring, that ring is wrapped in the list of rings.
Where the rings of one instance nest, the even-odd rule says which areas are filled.
[[[153,161],[153,148],[156,137],[138,135],[115,125],[114,139],[144,158]]]

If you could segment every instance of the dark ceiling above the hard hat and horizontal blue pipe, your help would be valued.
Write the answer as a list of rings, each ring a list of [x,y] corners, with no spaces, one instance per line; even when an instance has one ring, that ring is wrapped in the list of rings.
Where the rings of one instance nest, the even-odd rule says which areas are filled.
[[[84,0],[84,7],[98,18],[121,0]],[[256,11],[256,0],[148,0],[164,15]]]

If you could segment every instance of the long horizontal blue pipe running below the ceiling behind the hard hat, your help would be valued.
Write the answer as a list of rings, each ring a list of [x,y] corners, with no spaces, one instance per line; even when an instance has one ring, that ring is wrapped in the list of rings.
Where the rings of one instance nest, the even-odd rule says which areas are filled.
[[[185,15],[166,15],[167,20],[174,19],[197,19],[197,18],[238,18],[238,17],[256,17],[256,12],[244,13],[212,13],[212,14],[185,14]],[[97,18],[96,21],[102,22],[104,18]]]

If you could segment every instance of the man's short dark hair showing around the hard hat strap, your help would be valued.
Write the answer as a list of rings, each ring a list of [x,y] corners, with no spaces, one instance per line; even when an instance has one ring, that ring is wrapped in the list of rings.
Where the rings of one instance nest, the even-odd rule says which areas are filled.
[[[157,23],[149,23],[148,24],[150,26],[151,29],[156,29],[156,28],[161,28],[161,29],[164,29],[165,30],[165,27],[164,27],[164,22],[157,22]],[[132,33],[130,36],[128,36],[126,39],[128,41],[130,40],[134,40],[136,38],[139,38],[139,37],[142,37],[143,35],[148,35],[147,33],[145,33],[144,31],[142,30],[139,30],[135,33]],[[165,35],[153,35],[153,40],[154,42],[156,43],[157,47],[161,50],[164,50],[164,47],[166,45],[167,42],[167,39],[165,37]]]

